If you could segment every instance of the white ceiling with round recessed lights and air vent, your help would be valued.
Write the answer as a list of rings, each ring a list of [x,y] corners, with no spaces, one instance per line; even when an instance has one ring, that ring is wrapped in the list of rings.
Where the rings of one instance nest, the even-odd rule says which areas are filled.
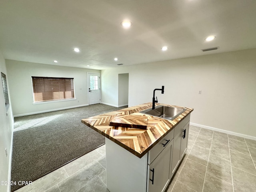
[[[256,0],[0,0],[0,50],[10,60],[102,70],[256,48],[255,10]]]

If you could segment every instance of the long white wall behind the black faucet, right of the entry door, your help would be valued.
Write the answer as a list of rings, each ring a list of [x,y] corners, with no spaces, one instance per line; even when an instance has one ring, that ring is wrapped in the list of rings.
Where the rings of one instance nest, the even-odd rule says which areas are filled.
[[[129,73],[129,106],[152,102],[194,108],[191,121],[256,137],[256,49],[101,71],[102,102],[116,105],[118,74]],[[202,90],[202,94],[198,91]]]

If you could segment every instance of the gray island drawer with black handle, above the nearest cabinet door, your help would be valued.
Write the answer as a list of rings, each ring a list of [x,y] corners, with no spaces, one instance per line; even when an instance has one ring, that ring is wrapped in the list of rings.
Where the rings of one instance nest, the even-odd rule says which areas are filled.
[[[164,138],[160,140],[149,152],[148,152],[148,164],[152,163],[154,159],[166,148],[166,146],[174,138],[174,129],[172,129]]]

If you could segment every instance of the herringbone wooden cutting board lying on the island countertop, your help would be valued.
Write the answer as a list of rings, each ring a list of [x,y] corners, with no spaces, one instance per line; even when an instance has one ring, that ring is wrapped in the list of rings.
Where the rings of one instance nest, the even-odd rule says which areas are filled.
[[[148,117],[145,115],[117,115],[110,121],[110,126],[147,129]]]

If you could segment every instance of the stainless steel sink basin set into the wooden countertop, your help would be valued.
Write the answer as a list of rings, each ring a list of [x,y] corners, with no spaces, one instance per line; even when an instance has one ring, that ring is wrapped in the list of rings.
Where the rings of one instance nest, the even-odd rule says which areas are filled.
[[[176,108],[176,107],[168,107],[164,105],[159,105],[156,106],[155,109],[147,109],[144,111],[140,111],[140,113],[168,119],[168,120],[173,120],[180,114],[182,114],[186,109],[184,108]]]

